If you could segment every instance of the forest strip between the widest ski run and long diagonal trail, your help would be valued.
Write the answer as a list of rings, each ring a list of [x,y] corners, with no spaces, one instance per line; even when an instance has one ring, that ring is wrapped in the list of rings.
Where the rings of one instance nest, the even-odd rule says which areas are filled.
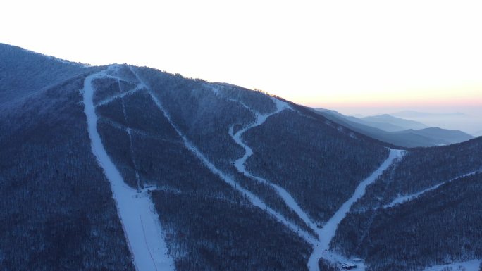
[[[117,93],[123,92],[111,92]],[[97,129],[127,184],[156,187],[154,202],[176,269],[306,268],[309,246],[202,165],[153,103],[140,89],[99,106]],[[113,120],[112,112],[122,115]]]

